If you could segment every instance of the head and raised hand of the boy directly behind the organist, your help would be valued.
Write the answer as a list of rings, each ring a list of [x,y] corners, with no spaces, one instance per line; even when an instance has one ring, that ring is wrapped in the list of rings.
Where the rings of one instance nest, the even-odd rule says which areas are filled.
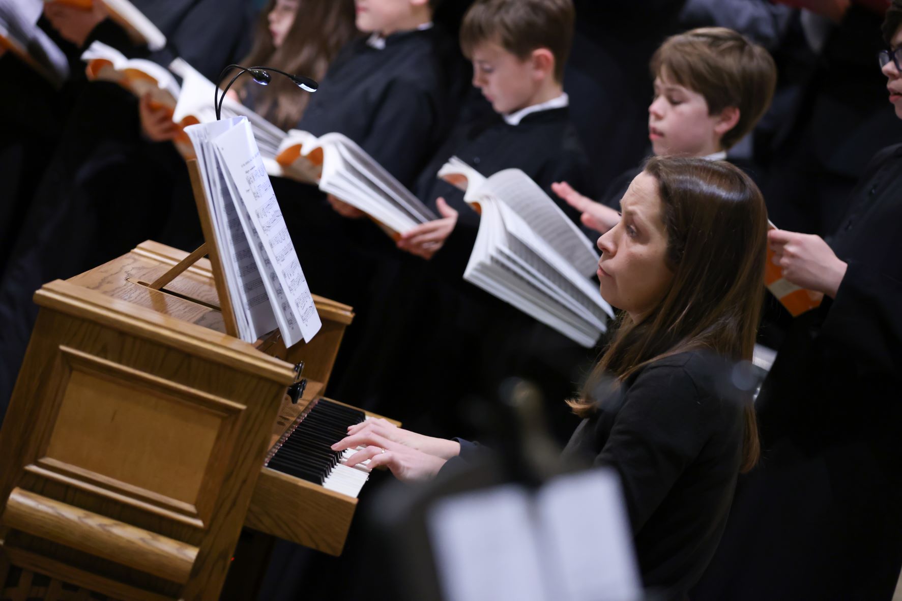
[[[651,59],[655,97],[649,105],[649,141],[655,155],[727,159],[727,150],[751,132],[768,110],[777,67],[764,47],[723,27],[667,38]],[[623,192],[641,168],[616,178],[601,202],[562,181],[555,193],[582,213],[584,225],[607,232],[617,223]]]

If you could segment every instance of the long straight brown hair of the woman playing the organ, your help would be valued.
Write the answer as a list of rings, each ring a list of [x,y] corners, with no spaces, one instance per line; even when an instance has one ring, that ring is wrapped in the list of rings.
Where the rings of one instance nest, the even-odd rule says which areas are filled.
[[[751,360],[755,345],[768,229],[758,187],[741,169],[705,159],[655,157],[645,172],[658,180],[673,282],[640,323],[621,314],[582,397],[568,402],[581,417],[597,409],[592,391],[605,374],[622,382],[649,363],[685,351]],[[751,399],[745,422],[742,471],[759,458]]]

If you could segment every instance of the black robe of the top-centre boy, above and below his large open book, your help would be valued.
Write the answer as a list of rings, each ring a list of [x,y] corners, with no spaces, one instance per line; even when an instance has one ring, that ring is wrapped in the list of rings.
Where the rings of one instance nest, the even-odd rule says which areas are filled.
[[[493,400],[503,377],[520,374],[537,380],[549,405],[559,409],[556,430],[566,441],[576,420],[563,399],[575,393],[593,354],[463,280],[479,219],[463,193],[439,180],[437,171],[452,156],[485,176],[520,168],[578,221],[578,214],[550,190],[562,180],[592,190],[591,167],[568,113],[566,108],[545,110],[517,125],[492,114],[456,128],[415,188],[430,207],[443,196],[458,210],[455,231],[433,260],[403,253],[393,265],[396,271],[386,278],[390,285],[375,295],[379,328],[367,332],[355,353],[354,378],[345,378],[342,397],[431,433],[467,435],[461,398],[475,394]],[[368,377],[362,379],[364,373]]]

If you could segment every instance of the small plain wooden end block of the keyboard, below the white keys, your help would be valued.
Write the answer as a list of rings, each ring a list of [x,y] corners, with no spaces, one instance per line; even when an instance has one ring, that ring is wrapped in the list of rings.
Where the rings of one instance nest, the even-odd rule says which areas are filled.
[[[263,468],[244,525],[305,547],[340,555],[357,499]]]

